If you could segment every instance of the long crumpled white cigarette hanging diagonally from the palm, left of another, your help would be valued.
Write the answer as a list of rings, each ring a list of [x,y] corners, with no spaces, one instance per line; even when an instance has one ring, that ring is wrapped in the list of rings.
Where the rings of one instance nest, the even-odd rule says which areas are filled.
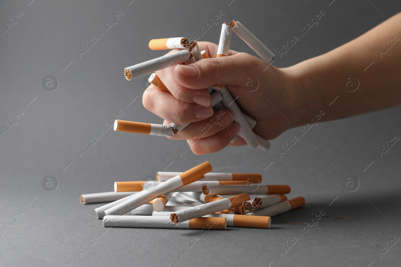
[[[229,110],[231,114],[233,114],[234,122],[239,125],[239,136],[245,139],[249,148],[254,149],[255,147],[257,147],[259,145],[259,140],[249,126],[237,103],[235,103],[233,96],[231,96],[227,87],[225,87],[225,85],[222,85],[222,87],[212,86],[212,88],[219,91],[219,93],[223,97],[222,102],[225,108]]]

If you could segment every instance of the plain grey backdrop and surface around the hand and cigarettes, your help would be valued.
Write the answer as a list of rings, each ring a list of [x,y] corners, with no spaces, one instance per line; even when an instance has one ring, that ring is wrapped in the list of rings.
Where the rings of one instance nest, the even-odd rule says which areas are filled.
[[[0,137],[0,227],[18,211],[24,212],[17,225],[0,237],[2,265],[399,264],[399,242],[382,258],[379,249],[396,235],[401,236],[401,145],[397,143],[382,158],[378,153],[387,141],[400,135],[399,107],[319,123],[282,158],[277,150],[293,139],[298,128],[272,140],[267,152],[228,147],[221,153],[197,156],[188,152],[180,157],[177,151],[184,141],[109,130],[82,157],[77,153],[119,110],[124,111],[124,120],[162,122],[142,106],[142,78],[128,82],[122,72],[129,62],[135,64],[165,53],[148,48],[152,38],[193,38],[223,10],[219,25],[233,19],[241,21],[276,54],[273,65],[286,67],[319,55],[312,44],[324,53],[363,34],[399,12],[399,1],[130,2],[17,0],[0,4],[1,27],[19,10],[24,12],[0,37],[1,127],[19,110],[24,112]],[[124,15],[118,24],[80,58],[77,49],[119,10]],[[282,58],[277,56],[282,45],[320,10],[325,15],[319,24]],[[218,42],[219,25],[200,40]],[[235,34],[231,48],[254,54]],[[54,92],[42,88],[42,78],[47,75],[59,80]],[[342,105],[341,98],[334,105]],[[329,113],[330,106],[324,111]],[[181,258],[181,246],[200,236],[198,231],[109,229],[79,257],[77,249],[103,229],[93,212],[99,205],[81,205],[80,194],[111,191],[113,181],[140,181],[168,166],[166,171],[182,171],[206,160],[214,171],[263,173],[265,184],[289,184],[289,198],[302,195],[306,205],[285,213],[285,217],[273,217],[271,229],[209,231]],[[42,188],[41,181],[47,175],[59,181],[54,192]],[[360,181],[355,192],[342,187],[347,175]],[[319,211],[329,217],[320,219],[280,258],[282,245],[300,236],[304,228],[301,221],[310,221],[314,218],[311,214]],[[345,218],[334,220],[339,216]]]

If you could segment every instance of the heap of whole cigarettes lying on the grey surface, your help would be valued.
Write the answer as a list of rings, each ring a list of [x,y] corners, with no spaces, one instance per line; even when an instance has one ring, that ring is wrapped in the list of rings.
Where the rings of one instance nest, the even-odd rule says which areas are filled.
[[[95,209],[104,227],[220,230],[269,229],[270,217],[305,204],[303,197],[287,199],[288,185],[261,185],[260,174],[210,171],[206,161],[183,173],[158,172],[157,181],[115,182],[114,192],[81,195],[80,201],[113,201]],[[258,196],[251,200],[250,194]]]

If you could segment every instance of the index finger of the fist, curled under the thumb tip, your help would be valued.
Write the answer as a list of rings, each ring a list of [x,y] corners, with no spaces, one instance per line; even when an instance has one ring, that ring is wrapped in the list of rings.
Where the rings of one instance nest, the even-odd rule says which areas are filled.
[[[167,54],[171,54],[179,51],[178,49],[171,50]],[[156,71],[157,76],[163,82],[163,84],[168,88],[171,94],[178,100],[185,101],[188,103],[195,103],[201,106],[210,105],[210,94],[205,88],[199,88],[197,90],[187,88],[179,84],[172,74],[172,69],[174,66],[169,68],[164,68],[162,70]]]

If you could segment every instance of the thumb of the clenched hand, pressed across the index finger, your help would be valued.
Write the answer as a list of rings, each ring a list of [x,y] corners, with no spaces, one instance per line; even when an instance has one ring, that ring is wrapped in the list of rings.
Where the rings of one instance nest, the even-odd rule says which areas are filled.
[[[269,66],[247,53],[219,58],[204,58],[188,65],[176,65],[174,78],[191,89],[207,88],[216,84],[236,84],[249,76],[259,76]]]

